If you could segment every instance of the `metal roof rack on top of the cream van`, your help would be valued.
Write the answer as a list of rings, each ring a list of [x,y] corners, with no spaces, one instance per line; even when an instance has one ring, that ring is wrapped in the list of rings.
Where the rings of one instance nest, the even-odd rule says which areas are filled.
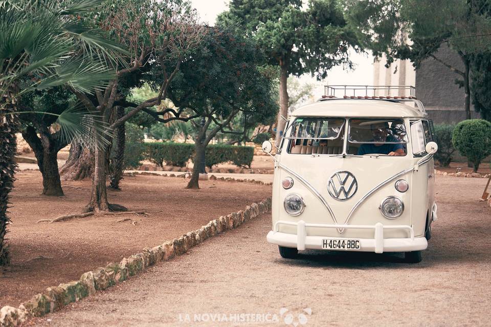
[[[375,99],[375,100],[388,100],[395,102],[413,102],[418,111],[425,117],[428,117],[428,113],[425,110],[425,107],[415,97],[416,88],[411,85],[326,85],[325,87],[325,95],[322,96],[323,100],[339,100],[339,99]],[[404,91],[404,96],[391,96],[391,91],[399,94],[399,91]],[[338,91],[338,95],[342,93],[341,97],[337,97],[336,91]],[[387,91],[386,96],[376,96],[376,91]],[[407,96],[407,91],[409,91],[409,96]],[[348,93],[349,92],[349,95]],[[351,92],[353,94],[351,95]],[[371,95],[369,95],[371,93]]]

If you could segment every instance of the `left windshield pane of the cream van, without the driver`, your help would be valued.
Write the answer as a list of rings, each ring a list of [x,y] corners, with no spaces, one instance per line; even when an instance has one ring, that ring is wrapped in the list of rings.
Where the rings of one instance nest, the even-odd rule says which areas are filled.
[[[345,119],[298,118],[292,125],[288,153],[341,154],[343,153]]]

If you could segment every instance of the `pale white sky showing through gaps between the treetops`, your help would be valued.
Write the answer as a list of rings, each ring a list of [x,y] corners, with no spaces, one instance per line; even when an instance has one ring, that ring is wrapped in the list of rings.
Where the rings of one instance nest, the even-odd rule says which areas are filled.
[[[216,16],[227,10],[228,0],[192,0],[201,20],[210,25],[215,23]],[[334,67],[325,80],[319,82],[310,75],[300,77],[301,83],[315,84],[314,97],[324,95],[324,85],[372,85],[373,84],[373,57],[367,54],[351,53],[354,63],[353,71],[345,71],[341,66]]]

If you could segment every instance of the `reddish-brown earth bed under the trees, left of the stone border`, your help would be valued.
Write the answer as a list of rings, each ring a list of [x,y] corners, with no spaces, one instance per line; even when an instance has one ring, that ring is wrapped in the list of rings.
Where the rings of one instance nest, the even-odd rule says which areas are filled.
[[[200,181],[200,190],[186,190],[183,178],[125,176],[122,192],[108,190],[109,201],[147,216],[92,216],[49,224],[36,221],[81,211],[90,200],[91,181],[63,181],[65,196],[49,197],[40,195],[39,171],[21,171],[15,177],[7,234],[12,265],[0,268],[0,308],[18,306],[49,286],[78,279],[271,196],[271,186],[253,183]],[[118,222],[124,218],[131,220]]]

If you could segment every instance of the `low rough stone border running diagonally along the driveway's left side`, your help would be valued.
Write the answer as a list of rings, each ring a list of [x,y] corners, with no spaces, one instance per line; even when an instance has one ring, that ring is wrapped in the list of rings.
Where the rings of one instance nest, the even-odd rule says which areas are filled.
[[[182,255],[193,246],[202,243],[226,230],[234,229],[260,214],[271,211],[271,198],[246,206],[244,210],[211,220],[205,226],[190,231],[178,239],[165,242],[151,249],[124,258],[120,263],[110,263],[88,271],[78,281],[48,287],[43,293],[34,295],[18,308],[5,306],[0,310],[0,327],[14,327],[24,321],[57,311],[69,303],[117,285],[130,276],[145,270],[161,261]]]

